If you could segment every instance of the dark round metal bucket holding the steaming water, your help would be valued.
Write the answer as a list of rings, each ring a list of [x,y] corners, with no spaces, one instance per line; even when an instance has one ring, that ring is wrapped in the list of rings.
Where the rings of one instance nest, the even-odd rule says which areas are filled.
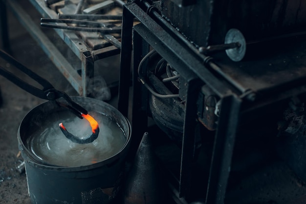
[[[64,108],[54,102],[45,102],[32,109],[23,118],[18,130],[18,143],[25,161],[28,192],[33,204],[95,204],[108,203],[104,188],[113,187],[128,152],[131,125],[126,117],[109,104],[86,97],[71,97],[87,109],[103,113],[115,120],[125,133],[126,142],[115,155],[100,162],[77,167],[63,167],[40,163],[26,147],[26,139],[41,126],[48,115]]]

